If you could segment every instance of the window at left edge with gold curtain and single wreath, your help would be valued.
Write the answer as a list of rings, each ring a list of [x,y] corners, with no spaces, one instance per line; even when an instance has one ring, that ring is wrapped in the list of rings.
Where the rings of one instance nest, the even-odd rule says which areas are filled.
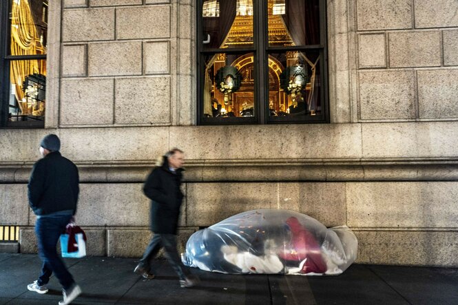
[[[0,126],[44,127],[48,0],[0,1]]]

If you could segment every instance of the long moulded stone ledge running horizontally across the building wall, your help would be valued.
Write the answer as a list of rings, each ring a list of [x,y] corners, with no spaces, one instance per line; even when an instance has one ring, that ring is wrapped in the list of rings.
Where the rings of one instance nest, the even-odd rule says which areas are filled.
[[[240,161],[240,160],[239,160]],[[186,166],[185,182],[263,182],[263,181],[423,181],[458,180],[458,160],[296,160],[288,163],[192,162]],[[145,182],[154,165],[149,162],[115,162],[105,165],[76,163],[82,183]],[[229,164],[229,165],[228,165]],[[0,183],[27,183],[31,165],[2,165]]]

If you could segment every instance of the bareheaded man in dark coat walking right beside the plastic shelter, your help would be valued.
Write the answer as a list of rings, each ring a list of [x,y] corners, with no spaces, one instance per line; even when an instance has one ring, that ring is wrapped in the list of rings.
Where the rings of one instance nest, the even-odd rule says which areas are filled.
[[[143,187],[145,195],[152,200],[150,220],[154,236],[134,272],[146,279],[153,279],[151,261],[160,248],[164,247],[167,260],[180,277],[180,286],[191,287],[198,283],[198,278],[191,275],[180,263],[176,250],[176,227],[183,201],[180,185],[185,155],[183,151],[175,148],[165,154],[160,161],[158,167],[149,174]]]

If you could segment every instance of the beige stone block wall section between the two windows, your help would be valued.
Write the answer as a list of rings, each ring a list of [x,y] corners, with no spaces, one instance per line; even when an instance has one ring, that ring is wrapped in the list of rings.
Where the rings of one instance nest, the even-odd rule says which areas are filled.
[[[194,123],[191,1],[65,0],[59,123],[53,127]],[[180,18],[178,19],[178,14]],[[178,23],[183,23],[178,29]],[[56,38],[57,39],[57,38]],[[57,57],[57,56],[56,56]],[[50,125],[48,125],[50,126]]]

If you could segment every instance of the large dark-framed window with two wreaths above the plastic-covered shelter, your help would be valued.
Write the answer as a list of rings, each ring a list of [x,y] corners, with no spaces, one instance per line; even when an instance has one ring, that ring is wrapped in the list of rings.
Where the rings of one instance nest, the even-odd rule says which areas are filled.
[[[199,123],[327,122],[325,2],[200,0]]]

